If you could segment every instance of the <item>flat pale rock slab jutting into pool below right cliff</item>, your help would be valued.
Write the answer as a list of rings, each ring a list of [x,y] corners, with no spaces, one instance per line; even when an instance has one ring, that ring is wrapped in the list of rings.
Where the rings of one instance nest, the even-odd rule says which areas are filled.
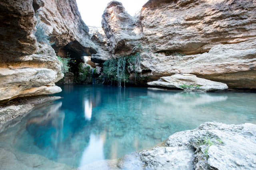
[[[149,86],[164,86],[169,88],[181,88],[186,91],[210,92],[227,89],[224,83],[214,82],[204,78],[198,78],[193,74],[174,74],[161,77],[158,81],[148,82]]]

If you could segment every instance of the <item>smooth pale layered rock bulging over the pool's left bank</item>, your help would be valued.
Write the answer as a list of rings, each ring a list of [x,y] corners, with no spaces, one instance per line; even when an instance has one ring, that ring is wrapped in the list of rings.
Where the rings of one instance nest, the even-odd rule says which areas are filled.
[[[63,77],[62,63],[49,45],[40,47],[49,53],[21,56],[0,64],[0,100],[62,91],[54,84]]]

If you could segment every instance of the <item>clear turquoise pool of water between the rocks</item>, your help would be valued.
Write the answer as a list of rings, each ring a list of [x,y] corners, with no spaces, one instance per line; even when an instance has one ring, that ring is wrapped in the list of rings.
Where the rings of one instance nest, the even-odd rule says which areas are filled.
[[[61,87],[63,91],[55,96],[62,99],[34,109],[0,134],[1,158],[12,153],[26,162],[24,167],[40,168],[47,159],[76,168],[147,149],[206,121],[256,124],[255,93]],[[31,155],[39,155],[38,165],[25,159]]]

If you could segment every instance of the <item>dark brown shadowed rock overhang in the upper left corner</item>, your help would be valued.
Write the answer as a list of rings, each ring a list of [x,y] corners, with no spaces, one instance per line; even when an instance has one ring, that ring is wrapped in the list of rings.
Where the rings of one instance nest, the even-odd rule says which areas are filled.
[[[36,37],[32,33],[36,17],[32,0],[2,0],[0,2],[0,60],[10,60],[36,52]]]

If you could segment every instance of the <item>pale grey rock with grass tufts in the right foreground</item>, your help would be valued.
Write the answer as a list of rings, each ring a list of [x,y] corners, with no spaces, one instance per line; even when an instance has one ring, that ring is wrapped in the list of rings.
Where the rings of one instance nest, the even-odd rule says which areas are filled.
[[[171,135],[165,145],[78,168],[146,170],[256,169],[256,125],[206,122]]]

